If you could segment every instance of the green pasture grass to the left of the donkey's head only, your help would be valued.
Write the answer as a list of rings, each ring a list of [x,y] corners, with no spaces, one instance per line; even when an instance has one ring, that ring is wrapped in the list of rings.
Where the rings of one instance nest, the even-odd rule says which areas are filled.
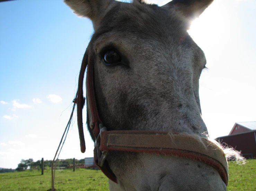
[[[1,191],[47,191],[51,188],[51,170],[26,170],[0,174]],[[55,188],[57,191],[107,191],[108,179],[100,170],[66,169],[56,171]]]

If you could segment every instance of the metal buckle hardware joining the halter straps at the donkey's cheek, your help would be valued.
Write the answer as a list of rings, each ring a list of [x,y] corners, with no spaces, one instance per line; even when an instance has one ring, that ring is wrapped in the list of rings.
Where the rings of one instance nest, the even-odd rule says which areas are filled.
[[[99,134],[98,134],[98,137],[97,137],[96,142],[95,142],[95,147],[97,149],[97,155],[98,155],[98,165],[100,167],[103,166],[103,164],[104,164],[104,162],[105,162],[105,160],[107,158],[107,154],[108,154],[108,151],[101,151],[99,149],[99,146],[100,146],[100,134],[103,131],[107,131],[107,128],[103,127],[103,124],[100,123],[99,124]]]

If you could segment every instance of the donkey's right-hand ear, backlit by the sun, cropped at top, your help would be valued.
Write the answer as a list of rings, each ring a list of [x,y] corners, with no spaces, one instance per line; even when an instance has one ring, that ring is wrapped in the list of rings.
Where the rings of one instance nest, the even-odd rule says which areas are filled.
[[[173,0],[162,6],[162,8],[177,10],[182,13],[186,19],[192,20],[199,17],[212,1],[213,0]]]

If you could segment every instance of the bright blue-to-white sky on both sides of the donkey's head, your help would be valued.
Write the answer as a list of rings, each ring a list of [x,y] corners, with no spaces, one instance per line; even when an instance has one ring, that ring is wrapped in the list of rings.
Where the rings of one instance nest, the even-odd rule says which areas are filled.
[[[53,159],[93,28],[61,0],[2,2],[0,18],[0,167],[16,168],[21,159]],[[212,138],[256,121],[255,18],[254,0],[215,0],[189,30],[209,68],[200,99]],[[91,157],[88,133],[83,154],[73,123],[60,158]]]

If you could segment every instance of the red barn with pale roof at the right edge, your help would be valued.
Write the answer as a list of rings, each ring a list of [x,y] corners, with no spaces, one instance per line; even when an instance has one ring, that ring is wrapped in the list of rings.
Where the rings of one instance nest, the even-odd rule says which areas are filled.
[[[237,122],[229,135],[217,140],[241,151],[246,158],[256,158],[256,121]]]

